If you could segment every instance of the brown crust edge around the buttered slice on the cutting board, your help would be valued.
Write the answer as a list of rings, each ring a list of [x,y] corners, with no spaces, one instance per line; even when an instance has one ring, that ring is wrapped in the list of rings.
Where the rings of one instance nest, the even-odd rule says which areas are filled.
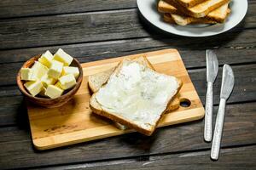
[[[136,61],[136,62],[139,62],[139,61]],[[113,74],[118,74],[121,68],[122,68],[122,63],[119,64],[119,66],[115,69],[115,71],[113,71]],[[178,89],[176,91],[176,94],[182,85],[182,82],[180,80],[177,80],[177,83],[178,83]],[[108,84],[108,82],[107,82],[107,84]],[[97,93],[99,93],[99,91]],[[102,105],[100,105],[96,99],[96,94],[93,94],[90,99],[90,107],[91,107],[92,111],[94,111],[96,114],[101,115],[101,116],[106,116],[109,119],[113,120],[114,122],[122,123],[128,127],[134,128],[135,130],[137,130],[137,132],[140,132],[140,133],[143,133],[146,135],[151,135],[151,133],[154,132],[154,128],[156,127],[156,124],[154,126],[150,125],[147,127],[142,127],[141,125],[137,124],[137,122],[127,120],[127,118],[125,118],[124,116],[121,116],[121,115],[113,113],[113,112],[109,112],[109,110],[106,111],[106,108],[102,109]],[[176,94],[174,94],[174,95],[176,95]],[[172,98],[174,97],[174,95],[172,96]],[[172,101],[172,98],[169,99],[168,104]],[[167,105],[166,105],[166,109],[167,109]],[[165,109],[165,111],[166,111],[166,109]],[[163,111],[163,112],[165,112],[165,111]],[[161,112],[160,115],[162,115],[163,112]],[[159,122],[159,119],[157,122]]]

